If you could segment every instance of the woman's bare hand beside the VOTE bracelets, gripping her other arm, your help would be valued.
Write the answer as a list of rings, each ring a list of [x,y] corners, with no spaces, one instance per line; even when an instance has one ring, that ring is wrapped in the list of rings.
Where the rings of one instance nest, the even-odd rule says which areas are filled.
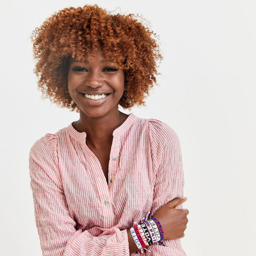
[[[184,237],[184,231],[187,228],[187,209],[174,209],[179,204],[184,203],[186,197],[177,197],[161,208],[154,214],[159,220],[164,231],[164,239],[171,240]]]

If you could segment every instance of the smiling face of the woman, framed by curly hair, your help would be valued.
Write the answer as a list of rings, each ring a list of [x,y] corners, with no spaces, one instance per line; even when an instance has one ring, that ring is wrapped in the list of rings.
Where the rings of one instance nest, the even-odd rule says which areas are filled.
[[[92,61],[69,64],[68,89],[80,115],[101,117],[118,113],[124,90],[124,71],[115,63],[105,62],[102,52]]]

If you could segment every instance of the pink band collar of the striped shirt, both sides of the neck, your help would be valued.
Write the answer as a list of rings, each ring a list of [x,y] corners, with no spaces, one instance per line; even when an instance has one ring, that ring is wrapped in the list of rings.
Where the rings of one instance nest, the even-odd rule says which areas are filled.
[[[133,125],[136,119],[137,116],[135,116],[133,113],[130,113],[126,120],[121,124],[121,126],[117,127],[113,131],[113,137],[122,136],[125,133],[125,131],[128,130]],[[79,133],[75,128],[73,128],[72,123],[66,128],[66,130],[74,140],[85,140],[86,138],[86,133]]]

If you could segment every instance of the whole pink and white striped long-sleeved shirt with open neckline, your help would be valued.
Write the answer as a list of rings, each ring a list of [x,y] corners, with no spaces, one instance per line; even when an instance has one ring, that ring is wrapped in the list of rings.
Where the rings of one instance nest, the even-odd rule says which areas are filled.
[[[30,151],[31,189],[45,256],[128,256],[126,229],[183,196],[176,133],[130,114],[113,132],[109,184],[100,161],[72,124],[46,134]],[[182,206],[178,206],[181,208]],[[185,256],[180,239],[153,244],[152,254]]]

